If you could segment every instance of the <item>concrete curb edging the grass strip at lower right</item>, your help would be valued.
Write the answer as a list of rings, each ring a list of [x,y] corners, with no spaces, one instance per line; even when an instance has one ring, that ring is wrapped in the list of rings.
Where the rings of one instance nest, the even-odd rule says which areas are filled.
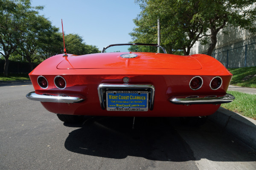
[[[224,108],[208,116],[212,122],[220,125],[223,130],[237,139],[256,149],[256,121]]]

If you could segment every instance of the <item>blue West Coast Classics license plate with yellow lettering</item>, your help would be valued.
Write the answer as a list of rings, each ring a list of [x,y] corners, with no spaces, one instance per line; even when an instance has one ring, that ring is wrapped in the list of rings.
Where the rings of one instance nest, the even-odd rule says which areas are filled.
[[[106,91],[107,111],[148,111],[148,91]]]

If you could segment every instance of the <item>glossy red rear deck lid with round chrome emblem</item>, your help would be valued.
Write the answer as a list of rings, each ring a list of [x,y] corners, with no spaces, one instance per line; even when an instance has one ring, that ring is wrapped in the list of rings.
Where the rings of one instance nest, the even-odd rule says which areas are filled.
[[[179,56],[159,53],[138,53],[135,58],[122,58],[121,54],[98,53],[65,58],[57,66],[58,69],[95,69],[95,68],[155,68],[155,69],[190,69],[198,70],[202,66],[191,56]]]

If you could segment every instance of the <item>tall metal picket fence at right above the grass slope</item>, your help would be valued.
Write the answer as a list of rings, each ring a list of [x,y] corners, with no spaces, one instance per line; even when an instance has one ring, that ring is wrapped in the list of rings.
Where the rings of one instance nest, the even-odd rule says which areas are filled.
[[[256,66],[256,37],[217,48],[212,52],[212,57],[226,68]]]

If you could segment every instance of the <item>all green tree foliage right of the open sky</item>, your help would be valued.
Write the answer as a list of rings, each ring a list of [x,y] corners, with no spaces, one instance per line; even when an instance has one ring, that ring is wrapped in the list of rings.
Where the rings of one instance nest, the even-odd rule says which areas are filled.
[[[255,0],[135,0],[142,9],[134,19],[137,28],[130,33],[133,42],[157,42],[157,18],[160,19],[161,45],[168,53],[183,50],[189,55],[196,41],[207,44],[208,55],[217,43],[218,32],[240,26],[256,31]],[[209,33],[210,32],[210,33]]]

